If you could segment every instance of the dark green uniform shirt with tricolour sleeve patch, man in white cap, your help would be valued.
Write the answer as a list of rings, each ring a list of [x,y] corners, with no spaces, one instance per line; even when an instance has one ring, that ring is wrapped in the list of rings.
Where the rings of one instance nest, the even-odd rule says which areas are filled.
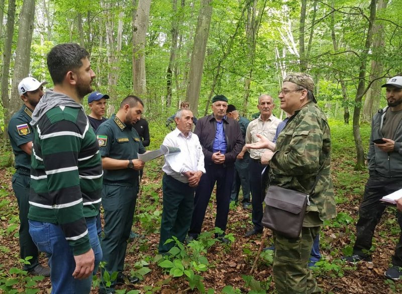
[[[25,105],[11,118],[9,123],[9,137],[11,147],[16,156],[16,168],[31,168],[31,156],[25,153],[20,146],[32,142],[33,131],[29,124],[32,117],[32,110]]]

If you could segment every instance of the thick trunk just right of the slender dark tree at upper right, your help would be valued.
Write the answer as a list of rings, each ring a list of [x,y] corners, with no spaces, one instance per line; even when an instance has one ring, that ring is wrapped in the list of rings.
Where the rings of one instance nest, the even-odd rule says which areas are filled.
[[[386,9],[388,0],[379,0],[377,10]],[[373,27],[373,55],[375,52],[381,52],[384,48],[384,26],[382,24],[374,24]],[[371,118],[379,108],[381,99],[381,72],[383,65],[380,61],[371,60],[370,81],[371,86],[367,90],[366,99],[364,100],[362,121],[371,122]]]

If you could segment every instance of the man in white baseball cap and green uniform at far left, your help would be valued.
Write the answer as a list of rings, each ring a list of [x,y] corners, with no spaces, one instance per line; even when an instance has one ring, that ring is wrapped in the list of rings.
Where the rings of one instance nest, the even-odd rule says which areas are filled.
[[[33,77],[26,77],[18,84],[18,92],[24,105],[11,118],[8,132],[16,158],[16,172],[13,175],[12,183],[20,210],[20,253],[23,259],[32,256],[30,264],[24,264],[24,270],[34,275],[50,276],[50,269],[39,263],[38,248],[29,234],[28,224],[28,195],[33,139],[32,127],[29,123],[32,119],[32,112],[44,94],[44,84],[47,84],[47,82],[40,82]]]

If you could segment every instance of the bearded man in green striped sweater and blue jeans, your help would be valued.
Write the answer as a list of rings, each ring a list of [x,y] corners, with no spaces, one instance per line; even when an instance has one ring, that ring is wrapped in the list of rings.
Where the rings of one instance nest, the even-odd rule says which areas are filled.
[[[49,257],[52,293],[89,293],[102,259],[95,218],[103,169],[81,100],[92,91],[95,74],[78,44],[53,47],[47,65],[54,88],[46,91],[31,122],[29,231]]]

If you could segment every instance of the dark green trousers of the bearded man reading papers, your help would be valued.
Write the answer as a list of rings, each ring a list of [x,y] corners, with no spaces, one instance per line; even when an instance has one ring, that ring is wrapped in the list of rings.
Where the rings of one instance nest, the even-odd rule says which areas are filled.
[[[113,272],[122,272],[124,269],[127,239],[130,237],[133,225],[136,201],[136,183],[133,186],[103,185],[102,206],[104,207],[105,238],[101,246],[104,252],[102,261],[106,261],[107,264],[102,269],[102,277],[105,270],[112,275]],[[100,283],[100,292],[110,292],[114,288],[114,283],[108,288],[105,285],[105,281]]]

